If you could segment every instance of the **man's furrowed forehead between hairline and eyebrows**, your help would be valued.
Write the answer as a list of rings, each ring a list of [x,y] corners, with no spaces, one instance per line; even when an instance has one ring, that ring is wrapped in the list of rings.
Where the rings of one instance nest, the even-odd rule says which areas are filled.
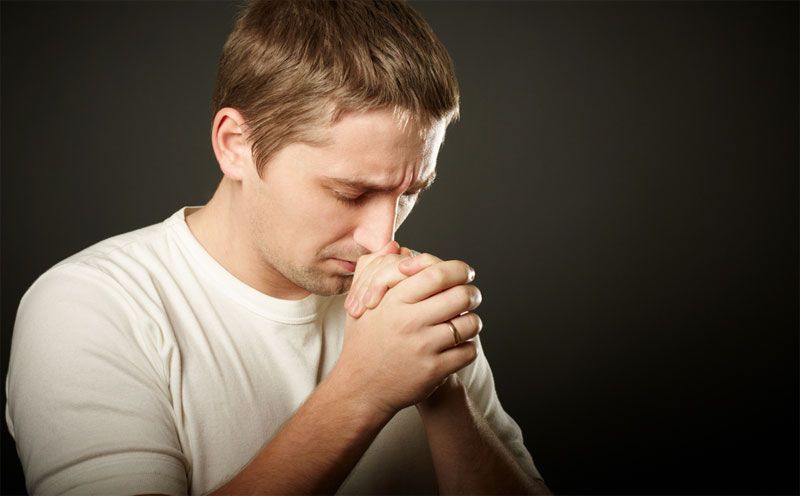
[[[432,175],[444,139],[444,121],[421,128],[391,111],[345,114],[323,145],[303,145],[306,165],[320,177],[395,189]]]

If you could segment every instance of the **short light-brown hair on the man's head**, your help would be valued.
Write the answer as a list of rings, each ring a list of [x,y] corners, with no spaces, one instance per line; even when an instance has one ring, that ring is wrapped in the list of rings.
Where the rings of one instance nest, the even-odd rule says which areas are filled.
[[[450,55],[398,0],[254,1],[225,42],[212,100],[245,119],[259,173],[345,112],[390,109],[426,128],[458,117]],[[213,118],[213,117],[212,117]]]

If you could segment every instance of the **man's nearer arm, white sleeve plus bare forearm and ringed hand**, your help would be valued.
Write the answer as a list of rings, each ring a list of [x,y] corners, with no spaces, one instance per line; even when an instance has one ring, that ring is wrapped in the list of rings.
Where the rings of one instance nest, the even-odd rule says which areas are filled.
[[[414,311],[441,291],[420,279],[369,316],[348,318],[328,378],[218,492],[334,492],[398,410],[474,360],[472,343],[442,347],[446,330],[418,318],[469,310],[464,300],[425,300],[426,311]],[[79,264],[43,276],[23,299],[7,418],[31,493],[186,494],[191,465],[164,377],[180,354],[161,349],[167,340],[148,322],[108,274]]]

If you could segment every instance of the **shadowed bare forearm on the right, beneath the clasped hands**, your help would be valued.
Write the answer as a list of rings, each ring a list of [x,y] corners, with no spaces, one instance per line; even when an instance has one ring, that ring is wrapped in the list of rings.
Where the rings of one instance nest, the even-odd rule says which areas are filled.
[[[455,376],[418,410],[441,494],[552,494],[522,470]]]

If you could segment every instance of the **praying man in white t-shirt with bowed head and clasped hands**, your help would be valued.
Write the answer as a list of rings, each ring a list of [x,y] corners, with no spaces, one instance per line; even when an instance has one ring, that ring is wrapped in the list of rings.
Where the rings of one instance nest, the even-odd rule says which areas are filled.
[[[29,490],[548,493],[497,400],[474,271],[393,241],[458,112],[427,24],[253,3],[213,105],[208,204],[20,303],[6,419]]]

